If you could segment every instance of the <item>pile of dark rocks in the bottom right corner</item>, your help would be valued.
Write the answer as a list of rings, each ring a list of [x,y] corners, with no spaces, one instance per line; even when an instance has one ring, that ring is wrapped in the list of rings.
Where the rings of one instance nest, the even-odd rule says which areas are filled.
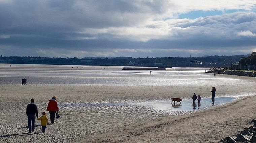
[[[248,124],[254,124],[251,127],[244,128],[244,131],[237,134],[236,136],[226,137],[221,139],[219,143],[256,143],[256,120],[252,120],[252,122]]]

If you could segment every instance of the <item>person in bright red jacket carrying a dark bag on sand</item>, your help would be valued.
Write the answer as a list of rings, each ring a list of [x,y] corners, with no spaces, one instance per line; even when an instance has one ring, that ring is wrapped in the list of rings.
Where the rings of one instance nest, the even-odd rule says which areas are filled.
[[[49,100],[46,111],[49,111],[51,123],[54,124],[55,114],[57,111],[59,111],[58,102],[56,101],[55,96]]]

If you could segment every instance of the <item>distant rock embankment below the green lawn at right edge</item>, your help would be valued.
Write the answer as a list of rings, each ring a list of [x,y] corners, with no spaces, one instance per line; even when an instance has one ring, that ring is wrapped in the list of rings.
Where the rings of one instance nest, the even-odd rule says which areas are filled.
[[[228,74],[228,75],[256,77],[256,72],[249,72],[249,71],[212,70],[212,71],[207,71],[206,73],[214,73],[214,72],[216,74]]]

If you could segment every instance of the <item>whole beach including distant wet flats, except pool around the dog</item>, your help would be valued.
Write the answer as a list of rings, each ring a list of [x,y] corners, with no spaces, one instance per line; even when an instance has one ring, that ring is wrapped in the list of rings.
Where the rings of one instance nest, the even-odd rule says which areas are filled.
[[[86,66],[85,71],[79,68],[79,72],[69,70],[71,66],[57,69],[50,66],[46,72],[52,74],[45,75],[45,71],[41,72],[44,67],[16,67],[1,65],[0,69],[0,142],[218,142],[249,126],[247,123],[256,117],[254,77],[217,74],[214,78],[196,70],[192,74],[183,71],[183,75],[169,71],[176,72],[171,76],[166,71],[152,72],[152,76],[137,71],[119,74],[119,68],[109,67],[104,72],[108,67],[98,67],[95,71],[95,67],[86,70]],[[74,72],[75,75],[67,74]],[[21,79],[26,74],[29,74],[28,84],[22,86]],[[43,82],[37,81],[38,78]],[[95,78],[99,80],[90,81]],[[62,83],[62,79],[69,80]],[[170,102],[172,97],[189,99],[194,92],[210,98],[212,86],[217,89],[216,97],[240,98],[180,115],[149,106],[120,105]],[[36,121],[35,132],[27,134],[26,106],[30,99],[35,99],[40,116],[52,96],[57,97],[61,118],[47,125],[45,133],[41,133],[40,121]],[[48,112],[46,116],[49,117]]]

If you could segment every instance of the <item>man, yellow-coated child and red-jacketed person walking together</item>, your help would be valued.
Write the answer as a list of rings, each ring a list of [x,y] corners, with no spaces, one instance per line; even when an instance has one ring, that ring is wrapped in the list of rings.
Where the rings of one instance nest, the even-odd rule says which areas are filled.
[[[46,117],[45,112],[42,113],[42,117],[38,118],[38,109],[34,104],[35,99],[30,100],[30,104],[27,105],[27,117],[28,117],[28,129],[29,133],[34,132],[35,130],[35,118],[37,120],[41,120],[42,132],[45,132],[46,124],[48,122],[48,118]],[[55,114],[59,111],[58,102],[56,101],[56,97],[53,96],[47,105],[46,111],[49,111],[51,123],[54,124]]]

